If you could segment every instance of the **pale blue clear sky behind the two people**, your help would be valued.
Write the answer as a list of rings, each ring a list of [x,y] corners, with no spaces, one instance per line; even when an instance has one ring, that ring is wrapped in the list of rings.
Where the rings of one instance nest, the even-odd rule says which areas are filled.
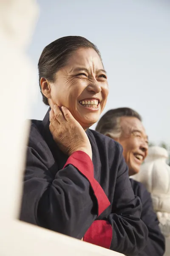
[[[134,108],[150,141],[170,144],[170,0],[37,2],[40,17],[28,49],[34,65],[57,38],[84,36],[97,45],[108,72],[103,113]],[[43,119],[47,109],[39,93],[28,118]]]

